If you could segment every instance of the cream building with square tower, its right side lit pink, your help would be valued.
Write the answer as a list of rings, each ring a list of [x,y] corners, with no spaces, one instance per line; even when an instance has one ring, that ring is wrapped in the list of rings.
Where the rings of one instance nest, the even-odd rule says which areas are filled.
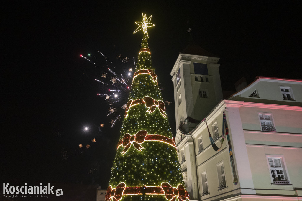
[[[190,199],[302,200],[302,80],[256,77],[217,100],[218,59],[181,53],[171,71],[175,140]]]

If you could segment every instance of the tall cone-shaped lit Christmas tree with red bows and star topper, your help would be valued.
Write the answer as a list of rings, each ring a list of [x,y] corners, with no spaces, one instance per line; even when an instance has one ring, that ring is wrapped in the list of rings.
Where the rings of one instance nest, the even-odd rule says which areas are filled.
[[[184,201],[189,198],[165,113],[165,104],[152,67],[147,33],[147,28],[154,26],[150,23],[151,17],[147,19],[143,15],[143,22],[136,22],[139,27],[135,32],[143,30],[143,42],[106,201]]]

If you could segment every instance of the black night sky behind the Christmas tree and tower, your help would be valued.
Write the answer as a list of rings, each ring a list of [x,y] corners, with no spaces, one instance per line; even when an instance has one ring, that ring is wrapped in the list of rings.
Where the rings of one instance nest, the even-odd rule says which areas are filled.
[[[133,31],[142,12],[153,15],[149,48],[163,98],[172,102],[174,134],[169,74],[188,44],[188,28],[196,44],[220,57],[223,90],[235,91],[241,77],[248,83],[255,76],[302,79],[298,1],[121,2],[2,5],[1,183],[107,188],[121,123],[110,128],[109,106],[97,96],[94,79],[106,71],[104,62],[95,70],[79,55],[101,58],[99,50],[113,62],[117,54],[137,59],[143,33]]]

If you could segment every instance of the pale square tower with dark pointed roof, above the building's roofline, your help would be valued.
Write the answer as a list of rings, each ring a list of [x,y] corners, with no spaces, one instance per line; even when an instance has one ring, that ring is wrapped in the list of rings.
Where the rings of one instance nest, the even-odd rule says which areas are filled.
[[[191,41],[179,53],[170,73],[174,84],[176,128],[191,131],[223,99],[218,61],[219,57]]]

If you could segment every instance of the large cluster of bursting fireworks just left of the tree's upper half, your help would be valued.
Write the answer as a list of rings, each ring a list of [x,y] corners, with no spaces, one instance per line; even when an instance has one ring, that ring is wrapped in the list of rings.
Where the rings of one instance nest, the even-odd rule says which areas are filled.
[[[98,95],[104,97],[109,105],[107,116],[113,116],[110,122],[113,127],[117,121],[120,121],[126,108],[135,69],[135,58],[130,61],[129,57],[117,54],[112,63],[100,51],[96,55],[90,54],[86,57],[81,55],[81,57],[94,66],[92,73],[95,75],[94,80],[100,91]]]

